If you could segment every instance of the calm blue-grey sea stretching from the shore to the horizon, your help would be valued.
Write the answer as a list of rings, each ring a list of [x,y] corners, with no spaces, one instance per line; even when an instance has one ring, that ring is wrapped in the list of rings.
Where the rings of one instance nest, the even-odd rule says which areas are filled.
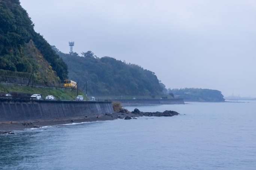
[[[125,108],[180,115],[0,135],[0,169],[256,170],[256,101]]]

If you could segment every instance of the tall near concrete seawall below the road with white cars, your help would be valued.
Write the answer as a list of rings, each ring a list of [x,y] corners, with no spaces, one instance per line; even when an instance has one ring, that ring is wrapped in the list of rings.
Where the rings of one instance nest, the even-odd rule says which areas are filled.
[[[111,102],[0,99],[0,122],[85,117],[113,113]]]

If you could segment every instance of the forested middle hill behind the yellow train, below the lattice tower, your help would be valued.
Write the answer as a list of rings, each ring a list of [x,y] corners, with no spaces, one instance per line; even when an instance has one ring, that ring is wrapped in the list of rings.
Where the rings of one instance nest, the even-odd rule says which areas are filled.
[[[91,51],[64,54],[53,46],[68,65],[68,77],[83,87],[88,81],[91,95],[156,95],[162,87],[155,73],[112,57],[98,58]]]

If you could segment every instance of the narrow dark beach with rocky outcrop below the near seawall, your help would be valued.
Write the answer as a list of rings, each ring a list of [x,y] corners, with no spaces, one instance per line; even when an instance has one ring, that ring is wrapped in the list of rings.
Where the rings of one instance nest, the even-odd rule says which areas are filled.
[[[96,122],[115,119],[136,119],[135,117],[141,116],[174,116],[179,115],[176,111],[164,111],[164,112],[141,112],[137,108],[130,112],[126,109],[122,109],[119,112],[107,113],[105,115],[95,115],[91,117],[68,117],[66,119],[45,119],[45,120],[24,120],[13,121],[12,123],[0,124],[0,134],[14,134],[14,130],[24,130],[27,128],[39,128],[42,126],[54,126],[65,125],[70,123],[82,123],[82,122]],[[77,119],[76,119],[77,118]]]

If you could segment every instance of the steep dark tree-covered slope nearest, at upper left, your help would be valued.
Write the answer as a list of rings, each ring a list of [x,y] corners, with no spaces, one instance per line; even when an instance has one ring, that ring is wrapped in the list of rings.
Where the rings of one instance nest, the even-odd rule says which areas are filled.
[[[19,0],[0,0],[0,69],[27,73],[34,70],[35,79],[41,83],[67,78],[67,65],[34,31]]]

